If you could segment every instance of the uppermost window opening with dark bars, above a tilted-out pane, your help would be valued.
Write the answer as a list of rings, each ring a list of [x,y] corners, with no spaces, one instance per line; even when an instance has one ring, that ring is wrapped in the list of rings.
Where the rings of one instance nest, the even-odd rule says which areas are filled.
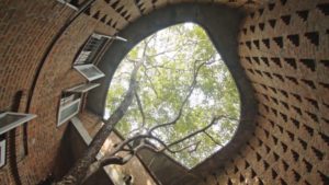
[[[93,33],[76,58],[75,65],[92,63],[109,38],[111,37]]]

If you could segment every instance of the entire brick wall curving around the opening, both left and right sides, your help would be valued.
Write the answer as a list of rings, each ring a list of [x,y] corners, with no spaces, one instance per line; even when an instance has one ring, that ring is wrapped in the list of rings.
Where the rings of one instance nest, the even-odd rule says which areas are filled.
[[[52,39],[75,11],[55,0],[0,2],[0,111],[38,115],[27,125],[27,155],[22,127],[5,135],[0,184],[37,184],[52,173],[66,128],[56,127],[60,92],[84,82],[71,62],[88,36],[120,33],[139,16],[181,1],[98,0],[59,37],[45,62]],[[205,174],[204,184],[329,184],[328,0],[203,2],[249,12],[237,39],[259,102],[252,139],[226,165]]]

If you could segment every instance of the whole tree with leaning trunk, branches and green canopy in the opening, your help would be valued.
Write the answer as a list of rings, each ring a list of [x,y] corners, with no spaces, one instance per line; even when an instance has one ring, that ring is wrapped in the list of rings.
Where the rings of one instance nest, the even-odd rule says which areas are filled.
[[[111,82],[106,129],[63,182],[80,183],[101,166],[125,164],[144,148],[167,152],[191,167],[223,147],[235,131],[239,102],[220,60],[205,32],[191,23],[144,39]],[[114,126],[125,140],[92,161]]]

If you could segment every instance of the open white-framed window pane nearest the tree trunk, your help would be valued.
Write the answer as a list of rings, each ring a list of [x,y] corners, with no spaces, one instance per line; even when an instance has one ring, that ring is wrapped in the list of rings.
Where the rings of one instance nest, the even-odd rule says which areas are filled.
[[[60,126],[79,113],[81,99],[73,100],[73,97],[72,95],[60,100],[57,126]]]

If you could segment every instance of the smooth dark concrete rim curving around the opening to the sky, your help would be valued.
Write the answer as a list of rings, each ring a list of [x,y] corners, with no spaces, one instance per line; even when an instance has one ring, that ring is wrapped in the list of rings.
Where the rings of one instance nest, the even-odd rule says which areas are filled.
[[[102,57],[99,68],[106,74],[99,80],[101,86],[88,94],[87,108],[103,116],[107,90],[111,79],[125,55],[145,37],[152,33],[183,22],[194,22],[201,25],[208,34],[227,65],[240,93],[241,120],[232,140],[191,170],[195,175],[205,175],[223,166],[232,159],[254,131],[256,115],[258,112],[253,89],[242,69],[238,56],[238,34],[243,12],[220,4],[182,3],[169,5],[137,19],[125,27],[120,35],[127,38],[127,43],[114,42]]]

